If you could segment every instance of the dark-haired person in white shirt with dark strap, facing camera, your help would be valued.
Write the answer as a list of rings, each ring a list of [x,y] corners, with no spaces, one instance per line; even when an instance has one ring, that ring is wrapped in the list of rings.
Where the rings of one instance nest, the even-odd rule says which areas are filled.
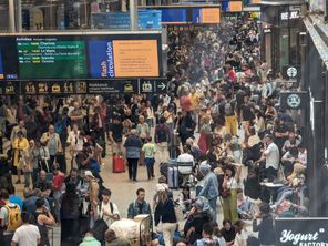
[[[99,217],[104,219],[109,227],[114,221],[120,219],[120,212],[116,204],[110,201],[111,195],[112,192],[110,189],[102,191],[102,202],[98,205]]]

